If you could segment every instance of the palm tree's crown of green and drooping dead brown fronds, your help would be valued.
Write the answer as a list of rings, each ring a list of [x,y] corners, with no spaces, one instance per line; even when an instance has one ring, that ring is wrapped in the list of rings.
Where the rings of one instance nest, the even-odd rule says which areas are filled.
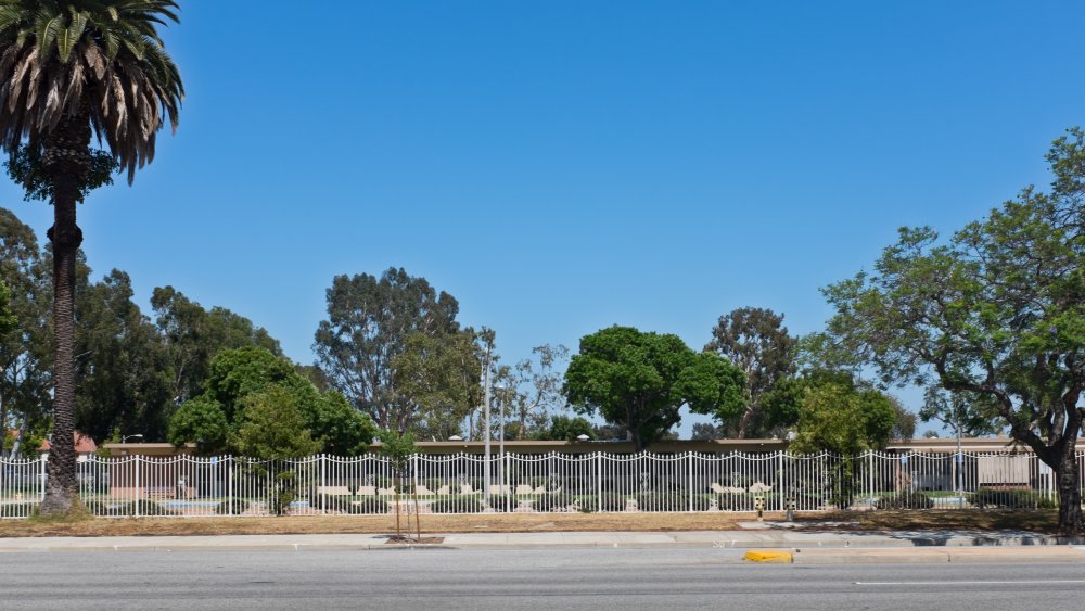
[[[131,181],[167,118],[177,129],[184,86],[157,28],[179,23],[179,10],[176,0],[0,0],[0,148],[85,116]]]

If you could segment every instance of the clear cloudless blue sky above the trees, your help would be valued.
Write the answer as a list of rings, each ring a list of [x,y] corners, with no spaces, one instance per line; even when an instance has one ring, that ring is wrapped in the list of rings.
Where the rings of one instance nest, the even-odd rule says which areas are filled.
[[[1080,1],[181,3],[180,129],[84,249],[302,362],[332,277],[390,266],[512,361],[746,305],[816,331],[818,288],[1046,184],[1085,123]]]

